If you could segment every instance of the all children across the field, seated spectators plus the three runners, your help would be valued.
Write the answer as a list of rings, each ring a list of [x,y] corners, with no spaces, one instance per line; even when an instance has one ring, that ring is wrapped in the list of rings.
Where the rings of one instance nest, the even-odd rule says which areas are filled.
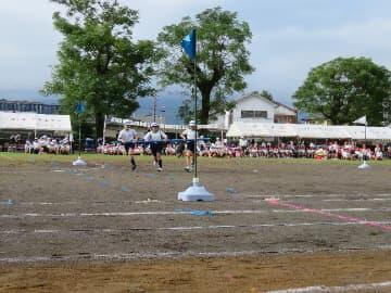
[[[199,137],[194,145],[194,124],[181,133],[181,139],[168,140],[166,133],[160,130],[157,124],[151,125],[150,131],[139,137],[125,126],[116,141],[98,145],[97,152],[106,155],[130,155],[131,166],[135,169],[135,155],[153,155],[156,165],[162,165],[161,155],[186,156],[186,168],[191,168],[193,154],[209,157],[303,157],[303,158],[336,158],[336,160],[383,160],[391,158],[391,145],[365,146],[355,141],[330,141],[315,144],[311,141],[302,142],[267,142],[240,138],[239,141],[227,141],[216,138],[215,141]],[[72,145],[68,137],[51,138],[42,136],[34,140],[26,140],[26,153],[70,154]],[[162,168],[162,167],[160,167]]]

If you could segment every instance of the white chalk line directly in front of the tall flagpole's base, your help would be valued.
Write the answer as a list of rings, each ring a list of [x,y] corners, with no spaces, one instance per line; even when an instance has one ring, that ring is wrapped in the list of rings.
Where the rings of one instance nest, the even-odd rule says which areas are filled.
[[[379,208],[325,208],[321,212],[391,212],[391,207]],[[239,209],[239,211],[210,211],[212,215],[236,215],[236,214],[267,214],[267,213],[306,213],[299,209]],[[23,218],[23,217],[128,217],[128,216],[162,216],[162,215],[191,215],[192,211],[184,212],[112,212],[112,213],[62,213],[62,214],[2,214],[0,218]]]

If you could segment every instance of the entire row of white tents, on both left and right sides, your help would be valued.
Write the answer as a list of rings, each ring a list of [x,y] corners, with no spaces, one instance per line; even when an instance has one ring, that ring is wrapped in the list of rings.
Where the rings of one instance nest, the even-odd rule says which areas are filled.
[[[141,125],[140,125],[141,126]],[[147,125],[146,125],[147,126]],[[172,126],[167,125],[169,131]],[[186,126],[178,126],[186,128]],[[176,129],[178,129],[176,127]],[[214,127],[201,127],[210,130],[227,131]],[[68,115],[46,115],[35,113],[0,112],[0,130],[50,130],[71,132],[71,118]],[[174,128],[173,128],[174,129]],[[228,138],[303,138],[303,139],[353,139],[353,140],[389,140],[391,141],[390,127],[365,126],[328,126],[307,124],[270,124],[235,122],[226,132]]]

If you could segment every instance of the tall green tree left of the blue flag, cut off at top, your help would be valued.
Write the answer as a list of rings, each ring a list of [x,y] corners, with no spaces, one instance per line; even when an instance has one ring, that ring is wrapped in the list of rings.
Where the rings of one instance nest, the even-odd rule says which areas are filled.
[[[152,41],[131,40],[138,12],[117,1],[51,1],[66,8],[65,16],[53,14],[64,39],[42,92],[59,94],[71,115],[84,101],[86,117],[94,120],[96,136],[101,137],[104,115],[129,117],[138,107],[137,98],[154,94],[150,79],[159,54]]]

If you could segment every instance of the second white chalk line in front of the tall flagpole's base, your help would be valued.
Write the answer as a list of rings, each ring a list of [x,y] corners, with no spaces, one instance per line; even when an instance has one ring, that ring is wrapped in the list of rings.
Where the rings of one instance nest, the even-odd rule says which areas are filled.
[[[381,225],[391,225],[391,221],[378,221]],[[273,227],[301,227],[301,226],[355,226],[366,225],[363,222],[333,222],[333,221],[318,221],[318,222],[279,222],[279,224],[256,224],[256,225],[211,225],[211,226],[179,226],[179,227],[134,227],[124,229],[36,229],[36,230],[0,230],[0,234],[21,234],[21,233],[113,233],[113,232],[127,232],[127,231],[152,231],[152,230],[212,230],[212,229],[243,229],[243,228],[273,228]]]

